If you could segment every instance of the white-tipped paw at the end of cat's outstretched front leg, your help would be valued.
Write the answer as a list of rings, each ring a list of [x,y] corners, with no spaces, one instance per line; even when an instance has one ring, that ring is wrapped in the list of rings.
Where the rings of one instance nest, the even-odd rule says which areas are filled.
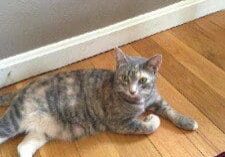
[[[192,131],[198,129],[198,123],[189,117],[181,117],[179,119],[178,127]]]

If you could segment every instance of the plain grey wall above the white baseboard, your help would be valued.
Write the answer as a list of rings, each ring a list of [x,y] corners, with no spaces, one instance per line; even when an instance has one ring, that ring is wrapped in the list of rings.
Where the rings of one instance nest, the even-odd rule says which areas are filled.
[[[180,0],[1,0],[0,59]]]

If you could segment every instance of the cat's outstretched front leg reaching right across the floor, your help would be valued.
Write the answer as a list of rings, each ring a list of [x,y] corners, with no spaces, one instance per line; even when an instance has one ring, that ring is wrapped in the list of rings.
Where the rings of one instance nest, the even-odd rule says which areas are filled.
[[[195,120],[178,113],[159,95],[154,104],[148,109],[166,119],[169,119],[179,128],[185,130],[196,130],[198,128],[198,123]]]

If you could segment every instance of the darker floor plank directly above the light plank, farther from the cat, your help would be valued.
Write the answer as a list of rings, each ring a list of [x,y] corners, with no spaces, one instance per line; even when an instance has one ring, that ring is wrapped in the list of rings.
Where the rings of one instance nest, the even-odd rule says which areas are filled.
[[[206,36],[194,22],[171,29],[179,40],[225,70],[225,47]],[[223,34],[218,34],[223,35]]]

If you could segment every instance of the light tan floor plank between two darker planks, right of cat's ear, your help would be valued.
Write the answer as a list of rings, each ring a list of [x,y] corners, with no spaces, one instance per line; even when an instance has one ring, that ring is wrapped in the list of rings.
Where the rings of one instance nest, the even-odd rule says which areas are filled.
[[[151,39],[195,76],[204,81],[211,89],[225,98],[225,71],[186,46],[173,36],[170,31],[154,35]]]

